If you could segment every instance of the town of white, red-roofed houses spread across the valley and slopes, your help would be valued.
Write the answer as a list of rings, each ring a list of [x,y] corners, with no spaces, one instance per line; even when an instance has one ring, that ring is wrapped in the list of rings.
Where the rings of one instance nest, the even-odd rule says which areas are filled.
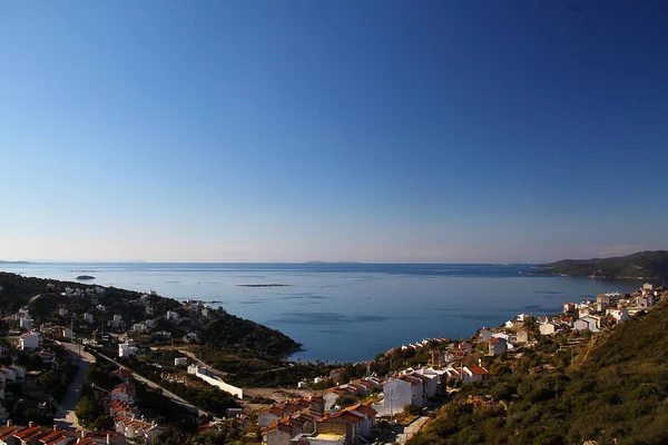
[[[215,355],[202,345],[224,309],[154,291],[40,281],[40,294],[0,314],[0,445],[403,443],[462,388],[500,373],[569,366],[596,333],[665,296],[648,283],[633,294],[566,303],[553,316],[520,314],[465,340],[403,345],[259,396],[207,362]],[[550,354],[536,353],[546,348]],[[296,376],[299,366],[284,367]]]

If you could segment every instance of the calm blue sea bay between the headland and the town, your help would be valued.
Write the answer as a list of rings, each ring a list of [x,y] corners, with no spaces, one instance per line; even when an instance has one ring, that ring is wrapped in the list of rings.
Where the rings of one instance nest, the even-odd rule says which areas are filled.
[[[527,276],[529,265],[389,264],[29,264],[27,276],[222,300],[230,314],[279,329],[307,349],[295,358],[347,362],[426,337],[461,338],[517,314],[560,312],[639,281]],[[90,281],[87,281],[90,283]],[[242,284],[286,284],[249,288]]]

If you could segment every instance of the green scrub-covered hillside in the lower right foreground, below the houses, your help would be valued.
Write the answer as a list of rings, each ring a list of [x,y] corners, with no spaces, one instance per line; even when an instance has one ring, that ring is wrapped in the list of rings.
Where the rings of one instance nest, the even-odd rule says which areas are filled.
[[[548,375],[497,373],[485,385],[462,388],[410,444],[668,443],[667,299],[597,334],[572,366],[559,340],[541,340],[564,366]],[[523,359],[544,360],[540,354]]]

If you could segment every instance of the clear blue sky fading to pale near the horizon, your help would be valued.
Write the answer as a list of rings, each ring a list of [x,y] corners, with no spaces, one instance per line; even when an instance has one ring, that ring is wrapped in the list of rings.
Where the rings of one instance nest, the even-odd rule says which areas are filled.
[[[668,248],[665,1],[0,6],[0,259]]]

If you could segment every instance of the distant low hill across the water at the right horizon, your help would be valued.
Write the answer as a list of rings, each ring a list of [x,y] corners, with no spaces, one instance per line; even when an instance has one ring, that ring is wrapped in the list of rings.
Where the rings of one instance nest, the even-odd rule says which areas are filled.
[[[668,275],[668,250],[645,250],[613,258],[562,259],[540,267],[542,269],[531,274],[658,279]]]

